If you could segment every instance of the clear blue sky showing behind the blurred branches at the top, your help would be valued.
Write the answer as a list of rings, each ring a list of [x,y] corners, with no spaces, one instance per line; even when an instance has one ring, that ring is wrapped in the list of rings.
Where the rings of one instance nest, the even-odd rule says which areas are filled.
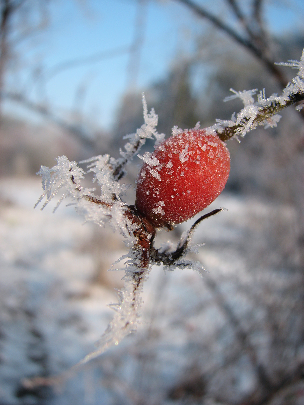
[[[222,13],[223,18],[227,15],[222,0],[197,2]],[[134,40],[139,10],[145,21],[143,42],[139,63],[130,72],[128,48]],[[304,21],[304,1],[270,1],[265,15],[273,32],[298,31]],[[30,95],[34,100],[48,100],[64,114],[75,107],[76,94],[84,89],[82,111],[98,126],[110,128],[131,79],[133,84],[136,79],[136,88],[142,91],[164,77],[174,59],[191,53],[194,38],[204,29],[205,24],[174,0],[150,0],[142,9],[137,0],[54,0],[50,3],[49,26],[32,49],[47,79],[38,82],[43,83],[42,87],[33,86]],[[74,64],[55,74],[54,68],[64,62],[108,51],[116,55]]]

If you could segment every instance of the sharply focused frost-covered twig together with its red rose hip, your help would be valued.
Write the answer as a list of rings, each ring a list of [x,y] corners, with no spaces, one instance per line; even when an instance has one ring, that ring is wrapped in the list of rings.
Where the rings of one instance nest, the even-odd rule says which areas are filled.
[[[199,123],[192,130],[181,130],[173,127],[173,138],[171,137],[169,141],[164,141],[164,134],[158,134],[156,130],[158,116],[153,109],[148,113],[143,96],[144,124],[135,134],[126,136],[128,142],[124,150],[120,151],[120,158],[114,159],[106,154],[81,162],[87,164],[88,173],[93,173],[93,181],[98,185],[98,188],[83,187],[81,181],[86,172],[76,162],[70,162],[66,156],[57,158],[57,164],[52,168],[41,166],[38,174],[42,177],[43,194],[36,205],[45,199],[43,209],[51,199],[57,197],[57,208],[65,198],[69,198],[71,200],[70,204],[75,205],[77,211],[85,217],[86,221],[93,221],[100,226],[104,226],[106,223],[110,224],[114,231],[118,230],[120,232],[129,248],[128,254],[120,259],[120,261],[124,260],[124,288],[118,292],[118,303],[111,304],[111,307],[116,311],[114,318],[99,340],[97,350],[88,354],[80,363],[87,362],[98,356],[112,345],[117,345],[124,336],[136,330],[141,307],[140,293],[152,264],[162,264],[168,270],[173,270],[176,267],[191,267],[198,271],[200,275],[203,274],[204,268],[199,262],[186,258],[187,253],[196,248],[189,246],[191,236],[203,219],[218,213],[221,209],[216,209],[199,218],[191,226],[190,230],[182,235],[180,243],[175,248],[171,243],[160,249],[154,247],[157,227],[165,226],[172,229],[176,222],[192,217],[202,207],[209,205],[223,190],[227,178],[221,183],[220,188],[214,192],[208,203],[205,205],[197,204],[197,209],[194,211],[189,209],[187,215],[180,216],[181,221],[176,220],[176,217],[166,216],[168,214],[166,204],[169,205],[170,198],[172,200],[174,198],[174,204],[171,204],[172,209],[177,211],[187,211],[188,209],[186,207],[187,200],[184,197],[193,191],[193,185],[191,186],[192,189],[189,188],[188,183],[183,181],[183,177],[185,171],[189,170],[190,162],[195,162],[194,166],[191,166],[191,177],[195,178],[197,187],[201,187],[201,183],[195,171],[195,164],[197,164],[198,168],[203,167],[205,175],[207,175],[208,171],[214,170],[217,175],[227,174],[227,171],[229,173],[227,164],[224,170],[219,172],[219,166],[214,167],[210,164],[216,159],[221,161],[225,159],[227,163],[229,154],[225,145],[223,145],[224,142],[231,138],[243,137],[247,132],[259,125],[263,125],[265,128],[276,126],[280,119],[277,113],[281,109],[304,99],[304,51],[300,62],[292,60],[284,65],[298,68],[299,72],[292,83],[287,84],[281,95],[272,94],[267,98],[265,90],[259,93],[257,93],[257,89],[242,92],[231,90],[234,94],[226,100],[238,97],[244,103],[244,108],[236,116],[233,114],[231,120],[228,121],[218,119],[213,126],[203,130],[199,129]],[[257,101],[254,99],[256,94]],[[302,105],[298,106],[297,109],[301,107]],[[195,134],[202,135],[197,138],[197,147],[200,148],[199,153],[193,148],[193,136]],[[140,198],[137,204],[127,205],[123,198],[129,185],[121,182],[121,179],[126,174],[126,163],[132,160],[139,152],[146,139],[152,138],[155,139],[156,145],[154,153],[149,154],[146,152],[141,156],[139,155],[144,161],[143,168],[139,172],[137,179],[138,189],[141,190]],[[208,159],[205,159],[203,152],[208,154]],[[176,156],[173,159],[174,153],[176,153]],[[160,190],[157,184],[159,182],[163,186],[165,181],[170,184],[170,173],[174,173],[175,176],[176,190],[175,188],[172,188],[172,190],[176,194],[165,196],[166,198],[158,198],[157,195]],[[177,173],[178,177],[176,177]],[[146,180],[148,176],[149,181]],[[214,177],[213,172],[210,179],[213,178],[212,176]],[[210,181],[207,182],[209,185]],[[168,192],[171,193],[172,190],[171,187],[168,187]],[[181,194],[179,194],[179,191]],[[162,193],[165,192],[166,187],[162,187]],[[150,193],[155,194],[155,196],[152,196],[151,203],[145,204],[144,196],[146,194],[148,200],[148,198],[151,198],[151,196],[149,197]],[[190,197],[188,204],[193,205]]]

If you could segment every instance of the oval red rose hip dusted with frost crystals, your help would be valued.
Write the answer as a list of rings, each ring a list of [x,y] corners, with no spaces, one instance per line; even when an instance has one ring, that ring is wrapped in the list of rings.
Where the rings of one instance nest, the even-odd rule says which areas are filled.
[[[137,177],[136,207],[154,226],[184,222],[223,191],[229,151],[217,135],[190,130],[158,145]]]

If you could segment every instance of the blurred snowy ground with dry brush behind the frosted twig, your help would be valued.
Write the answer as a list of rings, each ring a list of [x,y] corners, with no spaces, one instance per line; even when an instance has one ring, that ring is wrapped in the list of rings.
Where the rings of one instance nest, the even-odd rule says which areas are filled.
[[[33,209],[39,178],[0,180],[0,405],[304,403],[303,274],[289,206],[223,193],[193,243],[204,278],[154,267],[141,324],[103,356],[127,251],[120,235],[83,224],[73,207]],[[190,220],[161,241],[173,242]],[[59,381],[59,382],[58,382]]]

